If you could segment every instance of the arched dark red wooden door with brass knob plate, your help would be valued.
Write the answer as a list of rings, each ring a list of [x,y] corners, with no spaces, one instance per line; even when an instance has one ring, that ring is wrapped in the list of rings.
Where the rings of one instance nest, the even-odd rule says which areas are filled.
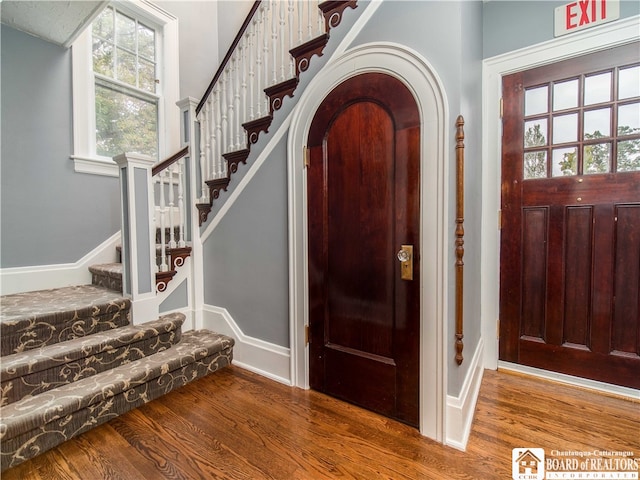
[[[418,425],[420,120],[398,80],[323,101],[307,173],[311,387]],[[396,253],[413,245],[413,280]]]

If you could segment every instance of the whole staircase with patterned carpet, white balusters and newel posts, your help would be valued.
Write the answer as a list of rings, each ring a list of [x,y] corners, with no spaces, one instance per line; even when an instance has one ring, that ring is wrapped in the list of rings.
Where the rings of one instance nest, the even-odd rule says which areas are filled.
[[[91,285],[0,297],[2,471],[231,363],[232,338],[149,312],[187,257],[202,269],[200,225],[347,7],[356,0],[256,1],[202,100],[179,102],[184,148],[157,165],[114,159],[122,262],[91,266]]]

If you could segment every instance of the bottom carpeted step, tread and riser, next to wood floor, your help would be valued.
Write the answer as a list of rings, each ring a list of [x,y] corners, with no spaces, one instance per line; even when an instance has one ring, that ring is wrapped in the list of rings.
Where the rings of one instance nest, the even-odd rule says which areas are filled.
[[[229,365],[233,344],[206,330],[186,332],[151,357],[3,407],[1,470]]]

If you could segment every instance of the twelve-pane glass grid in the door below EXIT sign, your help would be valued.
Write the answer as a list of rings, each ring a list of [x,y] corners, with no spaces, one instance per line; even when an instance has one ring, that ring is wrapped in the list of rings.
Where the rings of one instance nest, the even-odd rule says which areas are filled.
[[[640,171],[640,64],[527,87],[524,179]]]

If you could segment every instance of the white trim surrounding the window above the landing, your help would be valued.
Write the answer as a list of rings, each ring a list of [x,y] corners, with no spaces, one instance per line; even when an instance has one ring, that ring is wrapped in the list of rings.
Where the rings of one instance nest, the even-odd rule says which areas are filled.
[[[158,103],[158,158],[162,160],[180,147],[180,96],[178,19],[147,1],[113,2],[116,8],[132,12],[161,31],[158,77],[161,101]],[[91,67],[91,28],[72,45],[73,70],[73,155],[78,173],[119,175],[116,163],[96,154],[95,89]],[[124,153],[124,152],[123,152]]]

